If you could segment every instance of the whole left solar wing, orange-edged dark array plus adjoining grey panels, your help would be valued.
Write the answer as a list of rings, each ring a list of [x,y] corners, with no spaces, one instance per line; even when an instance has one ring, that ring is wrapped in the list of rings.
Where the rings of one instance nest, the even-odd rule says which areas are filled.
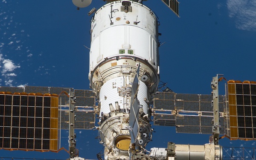
[[[69,92],[73,88],[0,87],[0,148],[57,152],[59,129],[69,128]],[[94,128],[95,94],[91,90],[74,92],[75,128]]]

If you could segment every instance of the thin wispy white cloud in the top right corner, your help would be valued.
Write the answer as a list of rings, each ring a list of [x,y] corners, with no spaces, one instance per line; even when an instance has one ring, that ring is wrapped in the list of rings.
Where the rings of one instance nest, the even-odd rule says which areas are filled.
[[[256,0],[227,0],[227,9],[237,29],[256,31]]]

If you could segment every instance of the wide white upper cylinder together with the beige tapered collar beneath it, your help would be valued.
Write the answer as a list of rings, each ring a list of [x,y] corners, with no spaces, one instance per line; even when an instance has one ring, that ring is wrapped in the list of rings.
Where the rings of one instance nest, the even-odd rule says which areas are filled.
[[[99,96],[100,87],[110,79],[128,74],[132,82],[140,62],[140,76],[148,77],[144,83],[154,93],[158,45],[158,23],[151,9],[130,0],[102,6],[91,22],[90,86]]]

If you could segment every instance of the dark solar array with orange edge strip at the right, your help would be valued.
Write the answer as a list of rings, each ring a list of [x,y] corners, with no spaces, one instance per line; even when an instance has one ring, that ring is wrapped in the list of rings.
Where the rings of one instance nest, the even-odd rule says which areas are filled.
[[[228,81],[230,138],[256,139],[256,82]]]

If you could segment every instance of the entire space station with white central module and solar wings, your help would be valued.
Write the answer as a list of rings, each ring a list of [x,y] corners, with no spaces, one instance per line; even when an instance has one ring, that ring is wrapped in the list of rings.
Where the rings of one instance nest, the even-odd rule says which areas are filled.
[[[79,9],[91,1],[73,3]],[[224,79],[220,74],[212,78],[209,95],[159,87],[156,15],[144,0],[104,1],[88,13],[93,15],[88,75],[92,90],[0,87],[0,148],[57,152],[59,130],[69,129],[69,159],[84,160],[74,130],[95,128],[105,160],[227,160],[233,157],[224,156],[220,135],[254,140],[256,82],[229,80],[226,95],[218,94]],[[177,0],[162,1],[179,17]],[[147,151],[153,138],[150,122],[174,126],[178,133],[209,134],[209,143],[169,142],[166,148]]]

